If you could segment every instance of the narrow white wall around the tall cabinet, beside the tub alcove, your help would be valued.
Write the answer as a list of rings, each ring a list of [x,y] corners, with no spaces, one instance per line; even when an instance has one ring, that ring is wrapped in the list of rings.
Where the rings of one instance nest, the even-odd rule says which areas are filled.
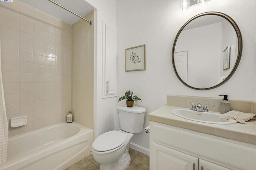
[[[114,129],[113,113],[116,110],[116,98],[102,99],[102,20],[116,26],[116,1],[85,0],[96,9],[94,20],[94,135]],[[95,22],[94,21],[94,22]]]

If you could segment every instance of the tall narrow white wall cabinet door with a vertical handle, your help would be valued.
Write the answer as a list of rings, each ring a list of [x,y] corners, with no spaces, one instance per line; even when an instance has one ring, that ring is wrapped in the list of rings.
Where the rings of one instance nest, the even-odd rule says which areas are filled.
[[[107,23],[104,23],[104,94],[103,98],[116,96],[116,41],[117,31],[116,27],[113,27]]]

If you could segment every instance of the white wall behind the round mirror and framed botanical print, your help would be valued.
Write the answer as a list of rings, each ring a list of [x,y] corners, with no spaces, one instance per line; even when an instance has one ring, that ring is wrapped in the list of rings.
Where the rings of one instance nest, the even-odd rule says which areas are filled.
[[[217,97],[228,94],[233,99],[255,99],[255,20],[256,1],[211,0],[180,12],[179,0],[118,0],[118,96],[134,90],[148,113],[166,104],[167,94]],[[242,32],[243,54],[235,74],[222,86],[206,91],[193,90],[182,84],[172,67],[172,45],[180,27],[202,12],[223,12],[232,17]],[[147,70],[125,72],[124,49],[146,44]],[[149,135],[135,134],[132,142],[149,148]]]

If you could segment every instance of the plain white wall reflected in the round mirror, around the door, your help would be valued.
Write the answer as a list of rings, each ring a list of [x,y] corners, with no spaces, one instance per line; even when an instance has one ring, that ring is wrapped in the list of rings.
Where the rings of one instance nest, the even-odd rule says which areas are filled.
[[[188,85],[196,88],[216,85],[220,77],[221,25],[218,22],[180,33],[175,52],[188,51]]]

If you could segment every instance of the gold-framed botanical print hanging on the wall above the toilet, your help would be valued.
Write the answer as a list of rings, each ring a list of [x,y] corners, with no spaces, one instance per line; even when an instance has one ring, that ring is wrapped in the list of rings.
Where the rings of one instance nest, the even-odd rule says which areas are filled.
[[[146,45],[125,49],[125,71],[146,70]]]

